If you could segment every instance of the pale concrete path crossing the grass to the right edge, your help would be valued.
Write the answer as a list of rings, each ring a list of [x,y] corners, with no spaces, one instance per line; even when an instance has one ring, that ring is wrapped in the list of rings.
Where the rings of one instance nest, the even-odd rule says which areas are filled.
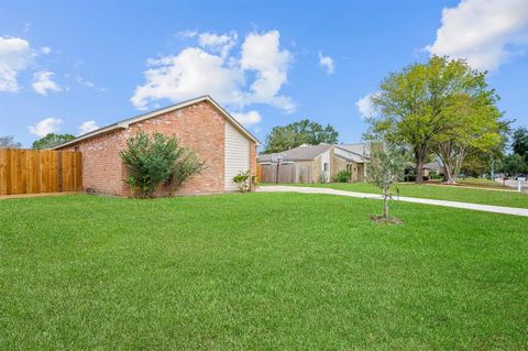
[[[260,187],[257,191],[258,193],[329,194],[329,195],[340,195],[340,196],[359,197],[359,198],[377,199],[377,200],[382,199],[382,196],[377,195],[377,194],[336,190],[336,189],[329,189],[329,188],[285,186],[285,185],[263,186],[263,187]],[[400,196],[399,200],[405,201],[405,202],[444,206],[444,207],[470,209],[470,210],[475,210],[475,211],[485,211],[485,212],[528,217],[528,209],[527,208],[515,208],[515,207],[480,205],[480,204],[470,204],[470,202],[421,199],[421,198],[416,198],[416,197],[404,197],[404,196]]]

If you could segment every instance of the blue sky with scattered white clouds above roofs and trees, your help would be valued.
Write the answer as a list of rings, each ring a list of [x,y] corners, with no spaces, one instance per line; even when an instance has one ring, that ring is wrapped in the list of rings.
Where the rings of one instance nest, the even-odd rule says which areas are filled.
[[[353,142],[362,98],[431,53],[490,69],[526,125],[527,44],[526,0],[3,0],[0,134],[30,146],[210,94],[262,141],[308,118]]]

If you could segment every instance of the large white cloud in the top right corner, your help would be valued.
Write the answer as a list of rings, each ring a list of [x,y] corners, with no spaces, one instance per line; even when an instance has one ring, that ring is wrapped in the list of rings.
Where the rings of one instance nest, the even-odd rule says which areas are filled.
[[[496,69],[528,37],[527,0],[462,0],[442,10],[442,23],[430,54],[466,58],[479,69]]]

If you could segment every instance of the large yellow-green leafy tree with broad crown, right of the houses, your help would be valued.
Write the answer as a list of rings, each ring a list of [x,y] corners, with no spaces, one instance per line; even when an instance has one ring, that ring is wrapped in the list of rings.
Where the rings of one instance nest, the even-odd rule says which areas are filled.
[[[416,163],[416,180],[421,183],[424,162],[433,151],[454,173],[470,147],[501,142],[497,99],[485,73],[463,59],[433,56],[382,81],[372,98],[376,113],[369,119],[370,133],[408,147]]]

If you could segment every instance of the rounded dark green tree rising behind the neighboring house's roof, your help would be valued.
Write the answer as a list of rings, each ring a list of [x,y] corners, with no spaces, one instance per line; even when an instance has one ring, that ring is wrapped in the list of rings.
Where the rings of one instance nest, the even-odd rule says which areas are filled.
[[[326,127],[304,119],[287,125],[274,127],[266,136],[264,153],[275,153],[294,149],[300,144],[318,145],[320,143],[334,144],[339,133],[332,125]]]

